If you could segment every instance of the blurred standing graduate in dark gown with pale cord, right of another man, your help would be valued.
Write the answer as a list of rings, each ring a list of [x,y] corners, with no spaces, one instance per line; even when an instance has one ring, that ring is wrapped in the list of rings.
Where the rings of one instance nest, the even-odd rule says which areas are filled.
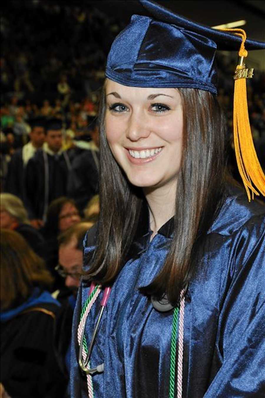
[[[49,204],[66,194],[71,163],[62,150],[62,124],[51,119],[47,124],[46,142],[29,160],[25,172],[26,204],[35,226],[41,226]]]

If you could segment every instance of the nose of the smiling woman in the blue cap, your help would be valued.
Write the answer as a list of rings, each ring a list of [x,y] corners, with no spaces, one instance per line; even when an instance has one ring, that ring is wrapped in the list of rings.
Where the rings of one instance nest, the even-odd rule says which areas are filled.
[[[147,117],[143,112],[132,112],[128,120],[126,137],[131,141],[147,138],[151,133]]]

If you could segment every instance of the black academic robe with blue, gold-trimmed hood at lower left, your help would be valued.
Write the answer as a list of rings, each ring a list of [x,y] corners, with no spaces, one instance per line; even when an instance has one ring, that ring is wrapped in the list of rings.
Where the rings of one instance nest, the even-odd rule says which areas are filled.
[[[60,303],[37,288],[23,305],[1,313],[1,382],[12,398],[64,396],[67,377],[53,343],[59,313]]]

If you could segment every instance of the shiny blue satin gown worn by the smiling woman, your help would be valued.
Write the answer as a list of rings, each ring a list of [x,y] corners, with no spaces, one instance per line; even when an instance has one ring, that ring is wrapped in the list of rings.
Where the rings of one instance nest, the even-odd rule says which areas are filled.
[[[244,193],[227,197],[198,253],[185,302],[183,398],[264,395],[264,215],[265,208],[248,203]],[[138,287],[147,285],[163,266],[172,230],[169,220],[149,242],[143,206],[130,259],[112,287],[92,351],[91,367],[104,362],[104,373],[92,377],[95,398],[169,396],[173,313],[157,312]],[[82,281],[73,321],[72,398],[87,397],[77,361],[77,327],[88,291]],[[102,294],[86,322],[87,341]]]

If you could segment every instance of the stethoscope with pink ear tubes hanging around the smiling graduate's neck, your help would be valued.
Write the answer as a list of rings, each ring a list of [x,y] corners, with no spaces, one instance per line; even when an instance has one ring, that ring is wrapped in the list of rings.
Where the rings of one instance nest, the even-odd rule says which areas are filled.
[[[186,284],[185,292],[186,292],[187,288],[188,288],[188,285]],[[95,289],[95,285],[94,285],[94,283],[91,283],[90,289],[89,289],[89,293],[88,293],[88,297],[92,294],[94,289]],[[110,291],[111,291],[110,287],[105,287],[103,298],[102,298],[102,300],[100,302],[100,305],[101,305],[100,313],[99,313],[99,316],[98,316],[98,320],[96,322],[96,326],[94,327],[94,330],[93,330],[92,339],[90,341],[90,345],[89,345],[89,348],[88,348],[88,351],[87,351],[85,359],[83,359],[83,357],[82,357],[82,347],[83,347],[83,342],[84,342],[84,331],[85,331],[85,328],[86,328],[86,320],[84,322],[84,326],[83,326],[83,329],[82,329],[82,334],[81,334],[81,339],[80,339],[80,346],[79,346],[78,362],[79,362],[79,366],[82,369],[82,371],[84,371],[87,375],[93,375],[94,373],[102,373],[102,372],[104,372],[104,363],[96,366],[95,368],[90,368],[88,366],[88,362],[89,362],[89,359],[90,359],[90,355],[91,355],[91,352],[92,352],[92,348],[93,348],[93,345],[94,345],[94,341],[95,341],[96,335],[98,333],[98,327],[99,327],[99,324],[100,324],[100,320],[102,318],[102,314],[103,314],[104,308],[106,307],[107,302],[108,302],[108,298],[110,297]],[[159,312],[167,312],[167,311],[173,310],[173,308],[174,308],[170,304],[170,302],[169,302],[169,300],[167,298],[167,295],[164,295],[160,300],[157,300],[157,298],[152,296],[151,297],[151,303],[152,303],[153,307],[155,308],[155,310],[157,310]]]

